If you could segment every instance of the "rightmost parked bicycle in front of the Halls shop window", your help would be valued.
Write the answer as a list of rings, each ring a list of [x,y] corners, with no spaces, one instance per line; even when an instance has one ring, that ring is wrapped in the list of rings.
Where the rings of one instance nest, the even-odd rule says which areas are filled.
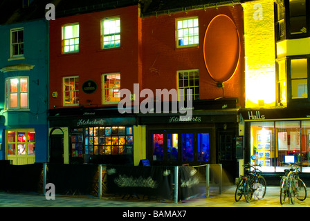
[[[284,162],[282,162],[284,163]],[[284,204],[285,198],[289,198],[289,202],[295,204],[296,199],[303,201],[307,198],[307,187],[306,184],[300,179],[298,167],[293,168],[293,166],[299,166],[298,164],[289,164],[291,169],[284,170],[284,176],[281,178],[280,182],[280,203]]]

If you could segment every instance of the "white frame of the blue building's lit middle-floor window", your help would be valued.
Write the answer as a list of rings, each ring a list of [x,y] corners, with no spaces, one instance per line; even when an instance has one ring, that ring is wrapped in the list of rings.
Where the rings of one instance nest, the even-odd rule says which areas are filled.
[[[25,92],[21,92],[20,88],[20,79],[26,78],[27,79],[27,106],[21,106],[21,94]],[[17,93],[11,93],[10,92],[10,79],[17,79],[18,84],[17,84]],[[16,107],[10,107],[10,97],[11,94],[17,94],[17,106]],[[7,111],[26,111],[29,110],[29,77],[26,76],[21,76],[21,77],[8,77],[5,80],[5,107]]]

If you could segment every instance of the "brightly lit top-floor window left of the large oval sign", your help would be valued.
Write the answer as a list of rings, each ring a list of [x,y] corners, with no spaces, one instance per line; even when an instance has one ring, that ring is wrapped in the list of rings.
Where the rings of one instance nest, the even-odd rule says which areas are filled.
[[[198,46],[198,17],[176,20],[176,47]]]

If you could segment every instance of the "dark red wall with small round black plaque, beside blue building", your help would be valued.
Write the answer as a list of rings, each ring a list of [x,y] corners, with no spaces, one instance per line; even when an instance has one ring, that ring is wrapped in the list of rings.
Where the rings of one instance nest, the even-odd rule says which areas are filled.
[[[106,17],[120,16],[121,40],[120,48],[101,50],[100,21]],[[62,26],[66,23],[80,23],[80,51],[62,55]],[[78,75],[80,87],[86,80],[96,81],[98,89],[87,95],[80,88],[80,106],[102,106],[101,75],[104,73],[120,73],[121,88],[133,91],[134,83],[141,83],[139,67],[139,47],[141,19],[138,17],[138,6],[117,8],[84,15],[57,18],[50,21],[49,52],[49,108],[62,107],[62,77]],[[52,93],[57,91],[58,97]],[[87,107],[87,105],[85,105]]]

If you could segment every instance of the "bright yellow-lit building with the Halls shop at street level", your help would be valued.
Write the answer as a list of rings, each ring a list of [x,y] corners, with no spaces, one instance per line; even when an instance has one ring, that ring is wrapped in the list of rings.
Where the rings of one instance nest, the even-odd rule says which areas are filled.
[[[253,19],[253,8],[262,17]],[[246,1],[246,162],[309,172],[310,1]],[[253,44],[255,42],[255,44]],[[259,62],[258,62],[259,61]]]

